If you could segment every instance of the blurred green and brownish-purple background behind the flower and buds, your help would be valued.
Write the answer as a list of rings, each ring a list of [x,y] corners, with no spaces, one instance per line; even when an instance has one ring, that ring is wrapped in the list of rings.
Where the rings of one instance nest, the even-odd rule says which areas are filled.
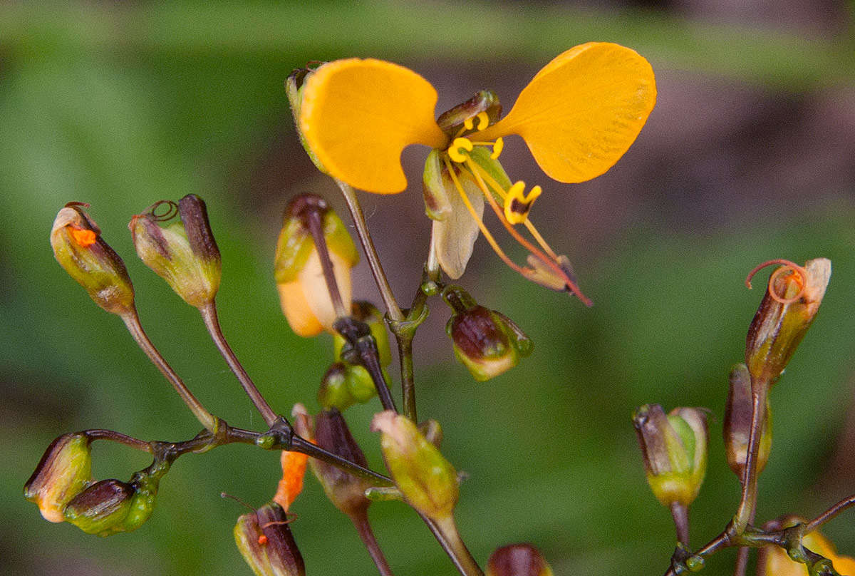
[[[293,133],[283,81],[309,60],[376,56],[437,86],[439,111],[491,87],[506,110],[552,56],[589,40],[628,45],[657,72],[656,110],[616,167],[595,181],[548,181],[520,141],[503,158],[540,183],[534,221],[569,254],[586,309],[505,270],[479,240],[463,284],[514,318],[534,355],[475,383],[451,355],[436,301],[416,336],[420,415],[445,427],[444,452],[469,473],[457,518],[482,563],[500,544],[540,546],[556,574],[662,573],[674,536],[649,492],[629,415],[660,402],[711,408],[710,471],[693,543],[738,500],[724,464],[729,366],[762,296],[742,284],[768,258],[825,256],[823,310],[773,391],[775,444],[758,518],[813,515],[855,491],[855,37],[852,3],[831,0],[589,0],[583,3],[27,3],[0,7],[0,573],[248,574],[233,546],[278,458],[229,446],[179,460],[139,531],[99,539],[52,525],[21,497],[50,440],[110,428],[150,439],[198,429],[127,336],[56,265],[48,232],[69,200],[91,203],[127,260],[143,324],[191,389],[230,424],[260,430],[198,314],[134,256],[126,225],[158,199],[198,193],[223,255],[221,322],[269,401],[317,409],[327,336],[302,340],[281,317],[272,274],[292,194],[339,205]],[[409,193],[363,195],[369,227],[407,300],[427,249],[418,193],[424,151],[408,150]],[[520,252],[511,252],[521,256]],[[365,264],[358,296],[378,301]],[[758,282],[759,285],[763,281]],[[397,389],[396,389],[397,394]],[[374,466],[376,405],[348,418]],[[98,446],[99,478],[127,479],[139,454]],[[292,510],[310,574],[374,568],[313,478]],[[404,505],[374,505],[396,573],[451,574]],[[855,517],[828,526],[855,554]],[[733,553],[705,573],[730,573]]]

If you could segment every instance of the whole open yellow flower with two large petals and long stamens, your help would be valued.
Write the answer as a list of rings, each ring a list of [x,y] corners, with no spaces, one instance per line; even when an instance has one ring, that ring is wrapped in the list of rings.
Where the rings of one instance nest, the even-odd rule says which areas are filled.
[[[449,276],[463,273],[480,229],[506,264],[580,297],[566,258],[546,246],[528,221],[540,187],[525,193],[525,184],[511,184],[496,162],[502,138],[521,136],[554,180],[587,181],[628,150],[656,101],[650,64],[634,50],[600,42],[575,46],[546,64],[501,120],[498,98],[487,91],[434,120],[437,93],[428,80],[370,58],[327,62],[308,75],[302,92],[298,126],[307,147],[329,175],[352,187],[402,192],[407,186],[400,163],[404,147],[433,148],[426,186],[433,175],[451,193],[441,198],[438,209],[428,203],[428,214],[438,220],[433,250]],[[513,264],[481,222],[485,199],[510,235],[532,253],[529,267]],[[515,226],[520,223],[542,250],[519,235]]]

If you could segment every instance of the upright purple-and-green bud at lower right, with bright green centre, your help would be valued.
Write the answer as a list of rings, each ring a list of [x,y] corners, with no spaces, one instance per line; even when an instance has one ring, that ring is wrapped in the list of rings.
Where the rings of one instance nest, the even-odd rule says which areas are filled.
[[[653,494],[664,506],[691,504],[706,472],[706,414],[699,408],[675,408],[667,416],[658,404],[633,414]]]

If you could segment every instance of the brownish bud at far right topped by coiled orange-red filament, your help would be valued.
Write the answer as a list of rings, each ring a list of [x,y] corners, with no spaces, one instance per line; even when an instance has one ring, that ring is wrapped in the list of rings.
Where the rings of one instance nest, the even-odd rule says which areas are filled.
[[[774,383],[787,367],[817,315],[830,276],[828,258],[808,260],[804,268],[785,264],[772,273],[746,337],[746,365],[755,384]]]

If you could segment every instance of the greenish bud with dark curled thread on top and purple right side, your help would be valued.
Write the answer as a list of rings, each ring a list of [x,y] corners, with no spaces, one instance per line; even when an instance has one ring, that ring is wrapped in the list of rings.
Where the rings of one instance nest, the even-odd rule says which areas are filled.
[[[180,221],[174,219],[176,215]],[[139,258],[175,294],[196,307],[214,301],[222,276],[221,258],[203,199],[187,194],[177,205],[162,200],[134,216],[128,228]]]

